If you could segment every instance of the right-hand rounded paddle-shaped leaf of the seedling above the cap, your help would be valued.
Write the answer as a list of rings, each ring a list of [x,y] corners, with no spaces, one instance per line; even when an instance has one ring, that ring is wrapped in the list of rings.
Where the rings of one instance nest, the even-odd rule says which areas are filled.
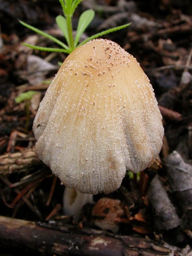
[[[90,22],[94,18],[94,15],[95,15],[95,13],[92,9],[84,11],[81,14],[81,16],[79,18],[79,22],[78,22],[78,28],[77,28],[75,40],[74,40],[75,46],[78,44],[81,35],[83,34],[83,32],[86,30],[87,26],[90,24]]]

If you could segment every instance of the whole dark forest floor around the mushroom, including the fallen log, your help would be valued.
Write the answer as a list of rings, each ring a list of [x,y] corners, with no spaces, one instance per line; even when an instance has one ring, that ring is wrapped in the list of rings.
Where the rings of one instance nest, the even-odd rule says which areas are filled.
[[[58,63],[63,63],[67,55],[22,45],[25,42],[55,47],[52,41],[18,22],[22,20],[62,41],[55,22],[62,9],[55,0],[1,0],[0,256],[25,252],[191,256],[192,4],[187,0],[84,0],[74,15],[74,30],[79,15],[90,8],[96,15],[83,33],[84,38],[131,22],[126,29],[103,38],[113,40],[132,54],[150,79],[163,118],[162,150],[157,161],[140,175],[127,174],[117,191],[94,195],[95,204],[83,207],[78,222],[65,216],[62,210],[65,186],[35,156],[32,125],[39,103],[59,69]],[[31,100],[16,102],[20,93],[31,90],[36,92]],[[93,209],[100,199],[106,200],[105,214],[95,216]],[[114,210],[114,205],[118,205],[121,214]],[[102,224],[98,225],[96,219]],[[19,223],[20,220],[26,222]],[[34,237],[30,241],[28,229],[20,233],[22,227],[32,229],[32,223],[37,225],[33,226],[33,234],[42,232],[41,243],[46,239],[52,243],[50,251],[51,245],[43,247]],[[50,238],[61,230],[73,241],[68,241],[65,248],[59,242],[54,247],[57,241]],[[59,234],[58,237],[62,236]],[[77,241],[80,239],[77,237],[83,242]],[[94,246],[91,237],[108,240],[101,248],[91,250]]]

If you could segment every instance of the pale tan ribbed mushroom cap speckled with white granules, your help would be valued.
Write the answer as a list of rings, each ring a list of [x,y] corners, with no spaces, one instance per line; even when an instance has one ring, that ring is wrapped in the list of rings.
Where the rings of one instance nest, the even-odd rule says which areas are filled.
[[[137,60],[96,39],[65,59],[48,88],[33,123],[35,151],[65,186],[110,193],[126,169],[143,171],[158,156],[161,119]]]

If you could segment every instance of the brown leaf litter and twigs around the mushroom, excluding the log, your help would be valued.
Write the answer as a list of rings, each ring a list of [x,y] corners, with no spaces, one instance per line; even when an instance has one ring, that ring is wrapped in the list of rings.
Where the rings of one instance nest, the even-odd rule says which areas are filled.
[[[86,7],[86,2],[90,1],[83,1],[81,8],[90,8]],[[112,231],[118,235],[133,237],[161,237],[158,241],[161,240],[164,245],[167,243],[168,248],[175,246],[181,249],[179,253],[190,255],[192,20],[189,10],[192,7],[188,2],[179,5],[172,1],[167,1],[168,4],[162,1],[159,6],[151,4],[147,10],[142,1],[129,1],[133,2],[132,6],[128,6],[127,1],[116,2],[100,1],[103,13],[96,13],[96,18],[100,19],[99,28],[103,26],[109,29],[112,21],[114,24],[119,20],[124,23],[125,20],[130,22],[134,18],[132,22],[135,26],[129,26],[127,31],[105,38],[116,41],[133,54],[150,78],[163,116],[165,135],[162,147],[164,150],[159,155],[161,164],[152,165],[140,177],[130,178],[126,175],[120,189],[107,195],[108,198],[119,200],[122,209],[121,216],[114,217],[118,228]],[[91,3],[97,12],[100,6],[95,1]],[[32,42],[31,44],[38,42],[46,47],[50,46],[50,42],[42,40],[40,35],[21,30],[16,18],[33,22],[34,26],[48,31],[54,26],[55,11],[59,13],[59,5],[50,1],[50,6],[45,8],[39,2],[38,10],[35,3],[25,2],[24,5],[26,8],[23,9],[17,3],[6,4],[3,1],[0,7],[3,10],[2,17],[9,13],[13,18],[13,22],[6,22],[6,16],[1,27],[0,215],[32,221],[57,220],[60,225],[76,225],[71,217],[62,219],[61,198],[64,186],[61,186],[58,179],[54,180],[50,170],[33,155],[35,138],[32,123],[37,111],[31,105],[33,98],[30,103],[28,131],[24,128],[26,112],[23,103],[15,102],[19,93],[31,88],[39,92],[42,98],[48,87],[44,81],[52,80],[58,69],[57,63],[66,58],[64,53],[58,53],[52,58],[49,53],[37,52],[23,46],[21,48],[20,41],[24,40]],[[17,17],[12,11],[13,6],[18,10]],[[35,16],[31,13],[35,13]],[[76,13],[77,16],[79,14],[80,11]],[[41,20],[37,19],[37,15],[41,15]],[[116,19],[118,15],[120,19]],[[97,19],[94,18],[91,23],[93,32],[98,32]],[[121,24],[116,23],[115,26],[119,25]],[[87,32],[87,37],[89,33],[90,31]],[[33,59],[30,61],[30,58]],[[50,61],[45,63],[45,58]],[[39,66],[30,64],[37,62]],[[41,128],[43,130],[43,123],[39,120],[38,129]],[[105,197],[106,195],[99,194],[94,196],[94,200],[98,202]],[[90,205],[83,207],[81,224],[85,228],[94,227],[100,230],[102,227],[93,224],[92,209],[93,206]]]

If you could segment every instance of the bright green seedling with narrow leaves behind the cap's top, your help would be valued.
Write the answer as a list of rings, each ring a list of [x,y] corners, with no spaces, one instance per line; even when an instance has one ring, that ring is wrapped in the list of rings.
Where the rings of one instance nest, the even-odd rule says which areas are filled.
[[[76,8],[78,7],[78,5],[80,4],[82,0],[59,0],[61,7],[63,9],[63,14],[59,15],[56,17],[56,22],[57,22],[57,26],[60,28],[60,30],[63,32],[63,35],[65,37],[66,40],[66,44],[61,42],[60,40],[58,40],[57,38],[49,35],[48,33],[45,33],[21,20],[19,20],[19,22],[29,28],[30,30],[33,30],[34,32],[54,41],[57,45],[61,46],[62,48],[48,48],[48,47],[41,47],[41,46],[34,46],[34,45],[29,45],[26,43],[23,43],[23,45],[28,46],[32,49],[35,50],[42,50],[42,51],[48,51],[48,52],[65,52],[67,54],[70,54],[75,48],[84,45],[85,43],[87,43],[88,41],[98,38],[98,37],[102,37],[103,35],[106,35],[108,33],[112,33],[115,32],[117,30],[121,30],[123,28],[126,28],[127,26],[129,26],[131,23],[127,23],[124,24],[122,26],[118,26],[115,28],[111,28],[108,30],[105,30],[103,32],[97,33],[95,35],[92,35],[91,37],[87,38],[86,40],[84,40],[83,42],[79,43],[79,40],[81,38],[81,35],[83,34],[83,32],[86,30],[86,28],[89,26],[90,22],[92,21],[92,19],[94,18],[94,11],[92,9],[89,9],[87,11],[84,11],[81,16],[79,17],[79,21],[78,21],[78,27],[77,27],[77,31],[76,31],[76,35],[73,38],[73,29],[72,29],[72,17],[74,15],[74,11],[76,10]]]

